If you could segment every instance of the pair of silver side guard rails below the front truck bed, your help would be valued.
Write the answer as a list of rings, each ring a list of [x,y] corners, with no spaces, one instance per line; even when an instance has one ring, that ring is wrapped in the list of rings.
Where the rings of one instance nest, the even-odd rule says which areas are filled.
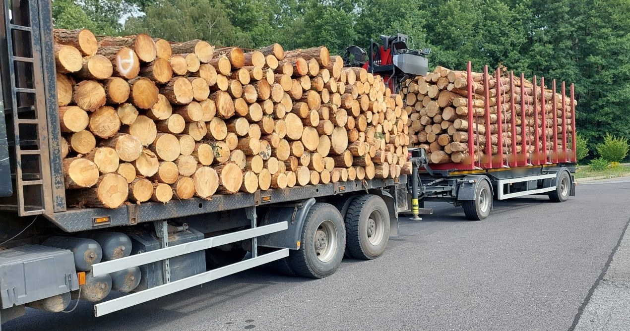
[[[288,223],[278,222],[270,225],[264,225],[262,227],[249,228],[239,232],[228,233],[226,235],[218,235],[216,237],[205,238],[197,240],[196,242],[189,242],[186,244],[174,245],[165,247],[163,249],[151,250],[149,252],[130,255],[121,259],[112,261],[101,262],[92,266],[92,272],[95,276],[102,276],[111,272],[120,271],[130,267],[141,266],[156,261],[162,261],[178,255],[197,252],[198,250],[209,249],[232,242],[238,242],[249,238],[256,238],[261,235],[267,235],[270,233],[280,232],[287,230]],[[254,247],[254,249],[256,249]],[[254,255],[255,256],[255,255]],[[202,272],[195,276],[173,281],[171,283],[162,284],[154,288],[145,289],[137,293],[122,296],[110,301],[98,303],[94,306],[95,316],[100,317],[113,311],[122,310],[130,306],[137,305],[149,300],[159,298],[161,296],[169,295],[177,291],[181,291],[186,288],[192,288],[215,279],[234,274],[239,271],[244,271],[252,267],[260,266],[267,262],[275,261],[289,256],[289,249],[280,249],[275,252],[259,255],[247,259],[245,261],[237,262],[229,266],[220,267],[207,272]]]

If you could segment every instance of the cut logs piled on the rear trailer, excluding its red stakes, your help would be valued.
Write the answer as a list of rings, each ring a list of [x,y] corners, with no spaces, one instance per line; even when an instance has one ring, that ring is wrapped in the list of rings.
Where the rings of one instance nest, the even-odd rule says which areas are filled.
[[[514,79],[514,90],[510,91],[510,80],[501,77],[500,95],[496,95],[497,80],[495,77],[488,79],[488,92],[490,104],[490,123],[486,123],[486,104],[484,98],[483,74],[473,72],[473,123],[469,123],[468,98],[467,98],[467,73],[454,71],[444,67],[436,67],[434,72],[427,76],[418,76],[406,82],[408,90],[403,89],[406,101],[406,112],[410,114],[408,125],[410,126],[410,144],[408,147],[422,147],[427,150],[430,163],[462,163],[471,162],[469,151],[469,126],[473,126],[474,162],[488,162],[486,143],[491,143],[493,161],[496,164],[514,160],[518,156],[512,155],[512,144],[515,144],[517,154],[524,155],[525,160],[532,157],[534,137],[536,135],[534,123],[534,86],[532,82],[525,81],[520,86],[520,79]],[[521,114],[521,88],[524,89],[525,118]],[[537,109],[539,150],[542,146],[543,134],[547,137],[547,151],[553,150],[553,118],[557,116],[558,151],[562,147],[562,95],[556,94],[556,114],[553,114],[551,89],[545,89],[545,120],[542,118],[541,88],[537,87]],[[511,98],[514,98],[515,114],[511,111]],[[501,109],[498,109],[500,99]],[[566,103],[566,126],[571,132],[570,99]],[[498,111],[501,112],[502,141],[498,141]],[[512,137],[512,116],[515,116],[515,133]],[[522,123],[525,121],[525,144],[522,144]],[[486,131],[490,130],[491,142],[486,142]],[[569,134],[568,134],[569,135]],[[503,155],[498,154],[498,146],[503,146]],[[522,146],[525,145],[525,150]],[[544,157],[544,156],[542,156]],[[501,161],[502,160],[502,161]],[[506,164],[507,165],[507,164]]]

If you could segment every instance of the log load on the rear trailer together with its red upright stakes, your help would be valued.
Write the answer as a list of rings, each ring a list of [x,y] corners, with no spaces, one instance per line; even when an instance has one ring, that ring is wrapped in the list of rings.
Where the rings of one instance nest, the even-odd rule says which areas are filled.
[[[575,160],[575,99],[534,77],[528,81],[437,66],[406,82],[409,147],[427,150],[433,167],[525,166]],[[573,91],[573,86],[571,86]],[[444,166],[438,166],[438,165]]]

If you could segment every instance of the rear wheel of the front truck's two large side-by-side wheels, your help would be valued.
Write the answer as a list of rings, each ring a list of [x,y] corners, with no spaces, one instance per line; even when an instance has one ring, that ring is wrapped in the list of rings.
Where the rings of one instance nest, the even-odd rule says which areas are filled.
[[[389,211],[380,196],[365,194],[352,200],[346,214],[346,251],[357,259],[372,260],[389,242]]]

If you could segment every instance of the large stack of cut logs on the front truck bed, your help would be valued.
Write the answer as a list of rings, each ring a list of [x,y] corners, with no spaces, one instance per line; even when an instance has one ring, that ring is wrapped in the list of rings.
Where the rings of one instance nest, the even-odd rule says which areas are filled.
[[[55,30],[67,201],[116,208],[411,172],[403,100],[326,47]]]

